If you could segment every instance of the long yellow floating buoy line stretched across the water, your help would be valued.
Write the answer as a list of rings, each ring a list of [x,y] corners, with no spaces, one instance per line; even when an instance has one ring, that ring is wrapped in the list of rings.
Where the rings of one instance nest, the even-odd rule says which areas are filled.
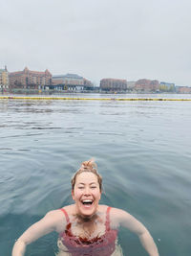
[[[190,102],[191,99],[168,99],[168,98],[74,98],[74,97],[28,97],[28,96],[0,96],[0,100],[47,100],[47,101],[172,101]]]

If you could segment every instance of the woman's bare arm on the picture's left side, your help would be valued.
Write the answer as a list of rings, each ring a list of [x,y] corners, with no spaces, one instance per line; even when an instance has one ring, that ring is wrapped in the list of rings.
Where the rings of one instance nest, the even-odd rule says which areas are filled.
[[[31,244],[38,238],[56,230],[57,222],[60,221],[60,216],[61,215],[57,211],[52,211],[47,213],[40,221],[32,224],[32,226],[29,227],[15,242],[12,249],[12,256],[23,256],[28,244]]]

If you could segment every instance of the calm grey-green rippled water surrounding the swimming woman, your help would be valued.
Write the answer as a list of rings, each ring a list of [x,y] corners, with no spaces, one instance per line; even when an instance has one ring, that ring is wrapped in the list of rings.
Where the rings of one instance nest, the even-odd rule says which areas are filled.
[[[191,102],[0,100],[0,255],[47,211],[72,202],[71,176],[94,156],[101,203],[142,221],[160,255],[190,256],[190,128]],[[53,256],[56,238],[26,255]],[[124,255],[147,255],[125,229],[119,243]]]

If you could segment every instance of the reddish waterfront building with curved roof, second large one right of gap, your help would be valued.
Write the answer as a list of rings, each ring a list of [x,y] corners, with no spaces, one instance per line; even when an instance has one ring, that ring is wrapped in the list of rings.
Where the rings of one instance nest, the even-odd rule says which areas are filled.
[[[159,81],[141,79],[136,82],[135,89],[139,92],[158,92]]]

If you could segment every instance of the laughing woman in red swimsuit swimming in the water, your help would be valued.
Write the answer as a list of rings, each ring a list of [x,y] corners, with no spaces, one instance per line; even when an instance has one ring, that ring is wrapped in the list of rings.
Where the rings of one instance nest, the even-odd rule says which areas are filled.
[[[51,211],[34,223],[17,240],[12,256],[22,256],[27,244],[56,231],[58,256],[122,256],[117,244],[117,229],[126,227],[136,233],[150,256],[159,256],[149,231],[127,212],[100,205],[102,178],[93,160],[83,162],[72,179],[74,204]]]

